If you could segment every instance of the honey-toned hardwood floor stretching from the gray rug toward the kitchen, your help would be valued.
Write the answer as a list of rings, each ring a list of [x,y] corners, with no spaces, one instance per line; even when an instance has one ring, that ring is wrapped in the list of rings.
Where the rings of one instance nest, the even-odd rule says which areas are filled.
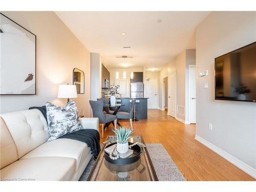
[[[134,135],[142,135],[145,143],[162,143],[188,181],[255,181],[241,169],[196,141],[195,124],[185,125],[172,117],[163,118],[163,111],[148,110],[148,117],[153,117],[153,114],[155,119],[133,122]],[[122,120],[120,123],[129,126],[128,120]],[[101,143],[108,135],[114,135],[111,129],[112,126],[104,131]]]

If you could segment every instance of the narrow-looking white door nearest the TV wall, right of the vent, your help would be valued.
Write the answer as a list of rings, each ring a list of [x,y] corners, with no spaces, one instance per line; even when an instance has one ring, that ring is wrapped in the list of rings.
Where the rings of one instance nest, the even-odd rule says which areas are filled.
[[[197,106],[197,101],[196,101],[196,77],[197,77],[197,72],[196,72],[196,66],[189,66],[189,121],[190,123],[196,123],[196,106]]]

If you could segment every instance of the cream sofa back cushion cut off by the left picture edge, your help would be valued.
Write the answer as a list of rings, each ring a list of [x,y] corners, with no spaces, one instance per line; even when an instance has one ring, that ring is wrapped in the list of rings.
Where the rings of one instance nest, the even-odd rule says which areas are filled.
[[[16,146],[4,120],[0,117],[0,169],[18,159]]]

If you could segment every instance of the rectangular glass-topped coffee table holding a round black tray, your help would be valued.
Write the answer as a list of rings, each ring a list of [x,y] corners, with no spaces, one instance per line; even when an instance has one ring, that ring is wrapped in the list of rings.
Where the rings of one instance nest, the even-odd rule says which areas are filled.
[[[108,136],[106,141],[108,142],[104,142],[88,177],[88,181],[158,181],[154,166],[146,148],[141,147],[141,150],[144,153],[137,162],[127,165],[116,165],[109,163],[104,159],[105,147],[116,142],[116,136]],[[145,144],[141,136],[131,136],[129,141]]]

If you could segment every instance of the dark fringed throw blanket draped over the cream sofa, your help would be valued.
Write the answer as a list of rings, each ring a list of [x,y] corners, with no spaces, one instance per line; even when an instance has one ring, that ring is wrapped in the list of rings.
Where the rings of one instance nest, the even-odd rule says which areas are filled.
[[[42,115],[44,115],[44,117],[46,118],[46,121],[47,121],[45,105],[44,106],[32,106],[29,109],[30,110],[32,110],[32,109],[39,110],[42,113]],[[61,138],[74,139],[74,140],[86,143],[88,145],[88,147],[91,147],[94,160],[97,159],[97,156],[99,155],[99,152],[100,152],[100,144],[99,144],[100,137],[99,137],[99,132],[97,130],[93,130],[93,129],[78,130],[76,132],[73,132],[73,133],[70,133],[67,135],[63,135],[63,136],[59,137],[58,139],[61,139]]]

